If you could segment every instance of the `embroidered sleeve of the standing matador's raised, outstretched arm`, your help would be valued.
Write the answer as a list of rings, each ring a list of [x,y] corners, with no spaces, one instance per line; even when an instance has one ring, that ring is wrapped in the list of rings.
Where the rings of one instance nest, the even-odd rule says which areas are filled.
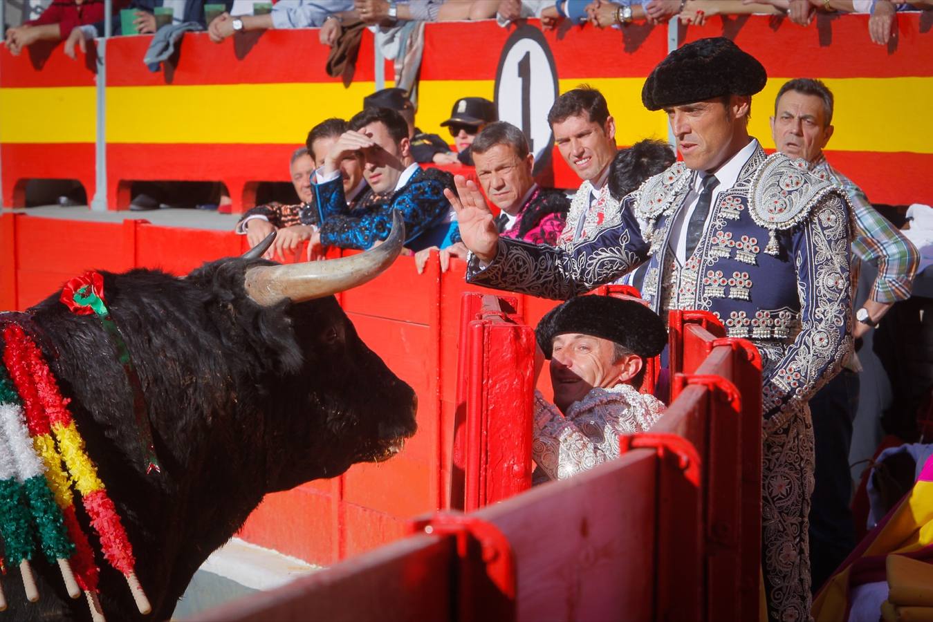
[[[611,283],[637,268],[648,256],[634,216],[596,237],[566,249],[499,239],[489,266],[471,256],[466,281],[510,292],[565,300]]]

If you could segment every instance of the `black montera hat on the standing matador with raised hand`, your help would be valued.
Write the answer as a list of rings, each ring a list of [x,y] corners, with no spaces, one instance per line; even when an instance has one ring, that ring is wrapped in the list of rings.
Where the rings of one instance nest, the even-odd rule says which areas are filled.
[[[768,74],[751,54],[724,36],[677,48],[645,80],[642,104],[648,110],[703,102],[722,95],[754,95]]]

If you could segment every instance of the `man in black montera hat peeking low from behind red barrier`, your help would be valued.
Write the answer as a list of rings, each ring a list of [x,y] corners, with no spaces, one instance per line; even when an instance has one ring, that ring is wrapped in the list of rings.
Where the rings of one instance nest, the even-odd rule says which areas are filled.
[[[571,298],[541,318],[535,332],[554,387],[553,405],[535,392],[535,483],[618,457],[620,435],[646,432],[661,417],[664,404],[638,391],[646,360],[667,344],[664,323],[647,306]]]

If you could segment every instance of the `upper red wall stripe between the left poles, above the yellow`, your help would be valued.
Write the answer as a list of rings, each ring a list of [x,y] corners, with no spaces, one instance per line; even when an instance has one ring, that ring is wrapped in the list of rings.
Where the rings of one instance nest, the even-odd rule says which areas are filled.
[[[267,84],[283,82],[341,82],[327,75],[330,48],[321,45],[316,29],[256,31],[212,43],[206,34],[188,33],[178,58],[158,72],[143,64],[150,36],[124,36],[107,44],[107,86],[165,84]],[[205,60],[207,60],[205,62]],[[386,76],[391,77],[389,71]],[[364,31],[353,81],[373,78],[372,35]],[[218,101],[218,106],[236,102]],[[248,111],[244,111],[248,114]]]

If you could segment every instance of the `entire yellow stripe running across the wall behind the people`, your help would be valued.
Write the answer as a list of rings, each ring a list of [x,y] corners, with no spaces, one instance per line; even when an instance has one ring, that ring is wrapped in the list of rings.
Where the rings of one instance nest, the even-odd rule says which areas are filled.
[[[616,118],[617,142],[631,145],[647,137],[664,139],[666,119],[641,105],[641,78],[561,80],[561,92],[586,81],[602,90]],[[771,78],[755,96],[750,131],[773,146],[769,117],[786,81]],[[905,103],[933,101],[933,77],[838,78],[825,80],[836,97],[835,134],[829,148],[848,151],[933,153],[922,119]],[[327,117],[350,117],[372,82],[340,84],[244,84],[212,86],[112,87],[107,89],[110,143],[185,144],[301,142]],[[459,97],[493,97],[493,80],[425,80],[417,121],[422,130],[450,141],[440,122]],[[95,135],[93,87],[0,89],[0,142],[92,143]]]

